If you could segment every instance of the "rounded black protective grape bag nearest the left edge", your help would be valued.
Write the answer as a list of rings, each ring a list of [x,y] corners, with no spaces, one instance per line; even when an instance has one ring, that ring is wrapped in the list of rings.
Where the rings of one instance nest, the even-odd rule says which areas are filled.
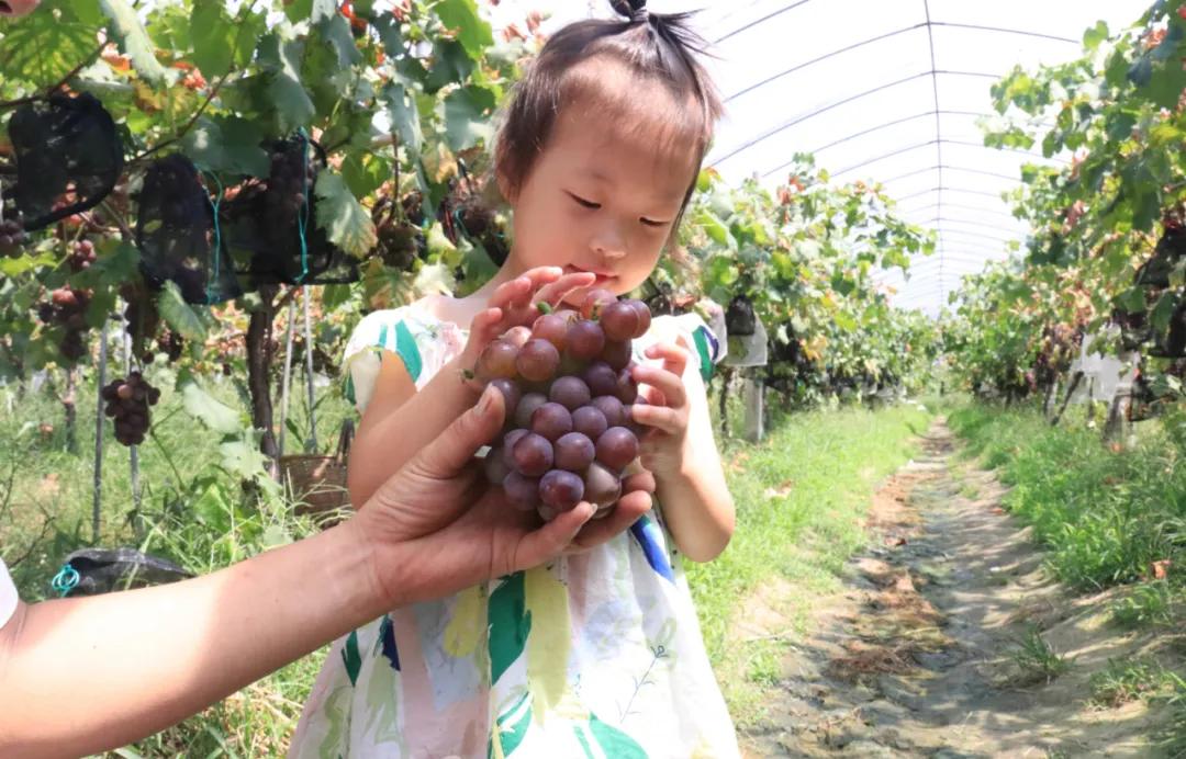
[[[8,120],[17,156],[15,199],[25,230],[87,211],[123,173],[123,143],[110,114],[91,95],[55,94],[18,108]]]

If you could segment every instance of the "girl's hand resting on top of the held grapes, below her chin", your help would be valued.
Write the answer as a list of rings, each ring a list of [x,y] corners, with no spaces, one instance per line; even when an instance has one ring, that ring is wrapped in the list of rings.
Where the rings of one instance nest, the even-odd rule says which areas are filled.
[[[560,266],[540,266],[498,285],[486,309],[470,323],[470,341],[461,353],[461,367],[472,369],[483,349],[512,327],[530,327],[540,317],[540,303],[553,308],[574,290],[591,287],[597,275],[563,274]]]

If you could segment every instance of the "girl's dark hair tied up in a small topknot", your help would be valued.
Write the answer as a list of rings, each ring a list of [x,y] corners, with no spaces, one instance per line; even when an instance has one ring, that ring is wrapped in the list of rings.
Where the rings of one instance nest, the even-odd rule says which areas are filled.
[[[495,147],[495,172],[517,191],[551,136],[561,109],[585,101],[623,115],[637,112],[637,92],[620,90],[620,78],[582,71],[601,58],[642,79],[664,86],[675,103],[661,117],[697,148],[697,174],[720,117],[720,96],[695,59],[704,41],[690,28],[691,13],[650,13],[646,0],[611,0],[621,19],[591,19],[565,26],[544,44],[511,91]],[[691,198],[696,181],[684,195]],[[682,210],[681,210],[682,214]]]

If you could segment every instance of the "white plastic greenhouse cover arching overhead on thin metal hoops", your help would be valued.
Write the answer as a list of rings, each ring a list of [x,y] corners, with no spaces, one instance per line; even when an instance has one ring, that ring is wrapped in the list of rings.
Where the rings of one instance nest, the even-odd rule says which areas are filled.
[[[963,275],[1008,255],[1026,227],[1001,193],[1040,153],[983,144],[989,88],[1013,66],[1082,54],[1096,21],[1118,30],[1150,0],[651,0],[655,12],[701,11],[709,69],[726,98],[708,163],[731,181],[788,179],[814,153],[839,181],[881,181],[907,220],[936,230],[936,255],[904,279],[879,272],[894,302],[936,314]],[[605,0],[503,0],[496,24],[530,9],[544,25],[611,15]]]

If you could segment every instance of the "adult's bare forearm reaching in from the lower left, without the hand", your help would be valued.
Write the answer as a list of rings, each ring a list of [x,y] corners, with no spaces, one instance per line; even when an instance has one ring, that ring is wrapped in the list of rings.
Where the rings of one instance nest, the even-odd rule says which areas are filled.
[[[0,755],[126,745],[380,616],[394,599],[356,530],[193,580],[23,606],[0,629]]]

